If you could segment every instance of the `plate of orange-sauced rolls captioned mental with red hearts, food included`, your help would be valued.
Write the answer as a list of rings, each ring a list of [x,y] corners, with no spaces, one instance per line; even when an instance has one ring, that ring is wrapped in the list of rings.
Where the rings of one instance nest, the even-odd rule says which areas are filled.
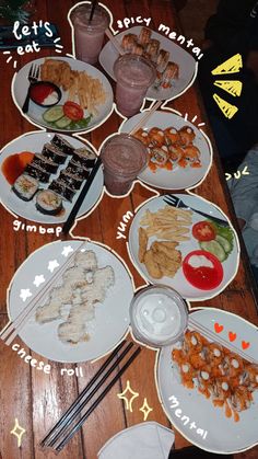
[[[255,325],[208,308],[191,312],[184,338],[161,349],[160,400],[190,443],[215,454],[237,454],[257,444],[257,345]]]

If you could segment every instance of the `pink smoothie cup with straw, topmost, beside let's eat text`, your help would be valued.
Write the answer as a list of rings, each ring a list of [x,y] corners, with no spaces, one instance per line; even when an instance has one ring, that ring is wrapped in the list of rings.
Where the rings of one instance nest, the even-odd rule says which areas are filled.
[[[89,64],[96,64],[102,49],[105,30],[110,23],[108,12],[99,4],[95,8],[92,21],[92,3],[75,7],[70,19],[74,30],[77,58]]]

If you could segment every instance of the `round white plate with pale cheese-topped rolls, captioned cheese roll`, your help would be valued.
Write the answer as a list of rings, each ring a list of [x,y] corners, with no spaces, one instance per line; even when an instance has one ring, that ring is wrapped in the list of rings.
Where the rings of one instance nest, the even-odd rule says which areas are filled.
[[[33,252],[15,273],[9,315],[13,321],[28,311],[19,334],[39,355],[86,362],[122,338],[132,297],[128,268],[106,246],[56,241]]]

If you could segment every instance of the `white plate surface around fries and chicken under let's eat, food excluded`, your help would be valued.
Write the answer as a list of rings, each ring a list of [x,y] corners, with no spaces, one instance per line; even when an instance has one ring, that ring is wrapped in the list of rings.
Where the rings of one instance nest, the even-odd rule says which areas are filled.
[[[22,112],[22,106],[24,104],[24,101],[27,94],[28,84],[30,84],[27,80],[27,76],[28,76],[32,65],[40,66],[42,64],[44,64],[45,58],[40,58],[40,59],[36,59],[26,64],[14,76],[14,80],[12,83],[12,89],[13,89],[12,95],[21,114],[25,116],[26,118],[28,118],[30,121],[32,121],[33,123],[39,126],[46,127],[48,129],[55,129],[56,131],[67,131],[69,134],[69,133],[79,133],[79,131],[86,133],[86,131],[95,129],[97,126],[99,126],[107,119],[107,117],[110,115],[113,111],[113,90],[112,90],[110,83],[99,70],[97,70],[95,67],[90,66],[89,64],[85,64],[85,62],[82,62],[81,60],[75,60],[69,57],[55,56],[52,58],[58,59],[58,60],[64,60],[66,62],[70,65],[72,70],[85,71],[91,77],[97,78],[102,82],[103,88],[106,92],[106,102],[103,105],[97,106],[98,114],[94,115],[91,122],[89,123],[87,127],[86,128],[84,127],[82,129],[72,130],[72,129],[66,129],[66,128],[58,129],[57,127],[54,128],[52,126],[47,124],[43,118],[43,114],[47,108],[36,105],[33,101],[30,101],[28,112],[27,114],[24,114]],[[58,103],[58,105],[63,105],[64,102],[67,102],[68,100],[68,92],[64,92],[62,90],[61,92],[62,92],[62,97],[60,102]],[[89,116],[89,112],[84,110],[84,117],[87,117],[87,116]]]

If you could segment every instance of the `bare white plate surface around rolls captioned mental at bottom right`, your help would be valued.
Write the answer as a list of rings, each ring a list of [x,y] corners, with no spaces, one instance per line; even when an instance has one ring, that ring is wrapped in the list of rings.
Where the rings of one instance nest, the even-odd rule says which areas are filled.
[[[258,334],[257,329],[250,323],[238,315],[210,308],[192,312],[192,317],[212,332],[215,322],[222,324],[224,330],[220,335],[226,341],[227,333],[235,332],[237,338],[234,345],[242,348],[242,340],[248,341],[250,343],[248,355],[257,359]],[[175,346],[164,347],[161,351],[156,367],[161,403],[172,424],[189,441],[212,452],[234,454],[255,446],[258,441],[258,391],[253,392],[251,406],[239,413],[239,422],[227,418],[223,409],[214,408],[211,400],[207,400],[197,389],[187,389],[180,383],[171,356]],[[173,395],[177,399],[177,406],[175,399],[169,400]],[[175,414],[176,409],[181,412],[177,411]],[[183,415],[190,420],[186,425],[180,418]],[[190,422],[195,422],[198,428],[207,431],[206,438],[200,431],[197,434],[197,428],[190,428]]]

